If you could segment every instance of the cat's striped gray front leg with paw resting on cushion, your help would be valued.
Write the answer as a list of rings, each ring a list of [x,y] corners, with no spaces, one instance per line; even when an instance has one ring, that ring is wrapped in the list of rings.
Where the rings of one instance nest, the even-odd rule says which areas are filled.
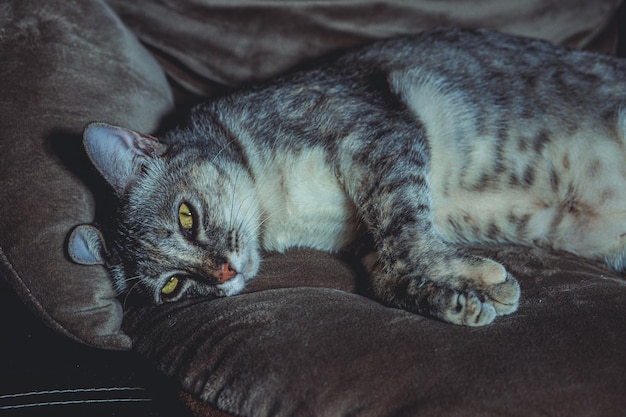
[[[364,259],[372,291],[384,303],[470,326],[517,309],[517,281],[499,263],[446,243],[432,222],[428,151],[404,137],[346,141],[340,178],[374,240]],[[392,137],[392,139],[389,139]]]

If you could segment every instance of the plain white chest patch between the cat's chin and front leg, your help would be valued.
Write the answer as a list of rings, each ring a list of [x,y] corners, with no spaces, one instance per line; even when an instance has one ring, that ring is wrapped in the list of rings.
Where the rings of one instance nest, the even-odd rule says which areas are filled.
[[[337,251],[354,239],[355,210],[321,149],[274,156],[257,177],[263,248]]]

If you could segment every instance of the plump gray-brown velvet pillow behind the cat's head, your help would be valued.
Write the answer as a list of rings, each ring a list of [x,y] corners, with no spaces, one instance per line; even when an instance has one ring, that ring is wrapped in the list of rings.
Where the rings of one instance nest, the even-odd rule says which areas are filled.
[[[106,272],[72,264],[64,241],[95,212],[76,166],[82,128],[154,130],[172,106],[164,74],[97,0],[2,2],[0,62],[0,275],[57,330],[129,348]]]

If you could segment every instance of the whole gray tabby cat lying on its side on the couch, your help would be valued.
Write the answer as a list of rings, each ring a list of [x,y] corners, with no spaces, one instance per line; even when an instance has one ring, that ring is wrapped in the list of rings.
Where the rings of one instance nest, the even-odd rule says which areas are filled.
[[[518,283],[456,243],[624,268],[625,103],[615,58],[474,30],[381,41],[202,104],[163,142],[90,124],[120,209],[69,251],[162,302],[237,294],[261,251],[368,236],[382,302],[485,325],[516,310]]]

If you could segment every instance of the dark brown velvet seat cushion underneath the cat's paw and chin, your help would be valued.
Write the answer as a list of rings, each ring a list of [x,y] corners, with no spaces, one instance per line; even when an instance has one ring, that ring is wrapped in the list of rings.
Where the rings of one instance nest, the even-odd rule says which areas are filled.
[[[125,326],[196,401],[238,416],[622,417],[626,281],[563,253],[476,252],[524,294],[485,328],[347,292],[346,265],[308,251],[272,256],[250,293],[131,311]],[[275,275],[291,281],[271,289]]]

